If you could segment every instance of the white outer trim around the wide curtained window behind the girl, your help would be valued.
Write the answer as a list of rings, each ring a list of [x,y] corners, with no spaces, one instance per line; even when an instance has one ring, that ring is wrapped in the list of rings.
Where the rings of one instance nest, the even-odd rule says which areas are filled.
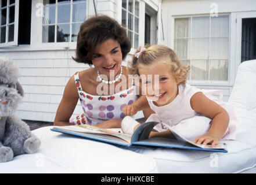
[[[205,16],[209,16],[210,17],[210,14],[191,14],[191,15],[182,15],[182,16],[172,16],[171,17],[171,24],[170,24],[170,29],[172,30],[171,32],[171,43],[170,43],[170,46],[171,48],[174,48],[174,20],[175,18],[188,18],[188,17],[205,17]],[[192,84],[192,85],[202,85],[202,86],[230,86],[232,87],[233,86],[233,82],[231,82],[231,78],[230,78],[230,74],[231,74],[231,69],[232,69],[232,65],[235,65],[235,64],[232,64],[232,62],[230,62],[230,38],[231,38],[231,16],[229,13],[219,13],[218,16],[229,16],[229,49],[228,49],[228,80],[226,81],[217,81],[217,80],[188,80],[187,82],[189,84]]]

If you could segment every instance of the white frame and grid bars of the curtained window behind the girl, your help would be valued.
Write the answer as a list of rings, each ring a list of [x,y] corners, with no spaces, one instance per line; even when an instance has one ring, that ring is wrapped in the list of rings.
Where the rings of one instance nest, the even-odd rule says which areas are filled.
[[[229,18],[229,21],[228,21],[228,26],[229,26],[229,32],[228,32],[228,58],[226,60],[228,60],[228,80],[210,80],[210,60],[211,58],[208,57],[208,58],[205,58],[205,59],[200,59],[200,60],[207,60],[208,61],[208,80],[190,80],[191,79],[191,73],[190,73],[190,77],[188,79],[188,82],[190,84],[200,84],[200,85],[218,85],[218,86],[232,86],[230,83],[230,70],[232,69],[232,64],[230,62],[230,39],[231,39],[231,23],[232,23],[232,20],[231,20],[231,16],[230,16],[230,13],[219,13],[218,16],[228,16]],[[172,34],[171,34],[171,48],[174,48],[174,40],[175,40],[175,36],[174,36],[174,32],[175,32],[175,18],[193,18],[193,17],[211,17],[210,14],[190,14],[190,15],[182,15],[182,16],[172,16],[171,18],[171,30],[172,30]],[[193,23],[192,23],[193,24]],[[211,24],[211,22],[209,23]],[[191,25],[192,27],[192,25]],[[190,30],[191,31],[191,30]],[[209,35],[209,39],[212,38],[210,37]],[[214,37],[213,37],[214,38]],[[190,36],[190,39],[191,39],[191,36]],[[209,42],[209,45],[211,43]],[[209,48],[209,51],[210,51],[210,48]],[[184,59],[185,60],[185,59]],[[193,60],[192,58],[188,58],[187,60],[190,61],[190,66],[191,66],[191,61]],[[212,60],[218,60],[218,59],[212,59]],[[219,59],[219,60],[223,60],[223,58]]]

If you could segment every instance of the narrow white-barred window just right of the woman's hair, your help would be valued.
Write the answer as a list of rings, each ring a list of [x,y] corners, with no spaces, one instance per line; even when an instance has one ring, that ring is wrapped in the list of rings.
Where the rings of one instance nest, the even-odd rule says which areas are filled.
[[[122,27],[127,29],[131,47],[139,47],[139,1],[122,0]]]

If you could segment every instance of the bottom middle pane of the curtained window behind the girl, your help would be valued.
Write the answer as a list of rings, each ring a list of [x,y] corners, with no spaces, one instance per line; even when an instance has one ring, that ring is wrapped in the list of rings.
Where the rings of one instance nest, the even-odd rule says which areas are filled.
[[[191,80],[208,80],[208,60],[191,61]]]

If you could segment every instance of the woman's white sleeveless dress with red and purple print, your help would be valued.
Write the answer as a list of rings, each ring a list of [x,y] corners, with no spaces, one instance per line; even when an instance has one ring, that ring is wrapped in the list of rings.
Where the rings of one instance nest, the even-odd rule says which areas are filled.
[[[110,119],[123,119],[125,114],[122,109],[138,99],[134,84],[113,95],[91,95],[82,90],[79,72],[75,73],[74,78],[84,113],[71,117],[72,124],[96,125]]]

